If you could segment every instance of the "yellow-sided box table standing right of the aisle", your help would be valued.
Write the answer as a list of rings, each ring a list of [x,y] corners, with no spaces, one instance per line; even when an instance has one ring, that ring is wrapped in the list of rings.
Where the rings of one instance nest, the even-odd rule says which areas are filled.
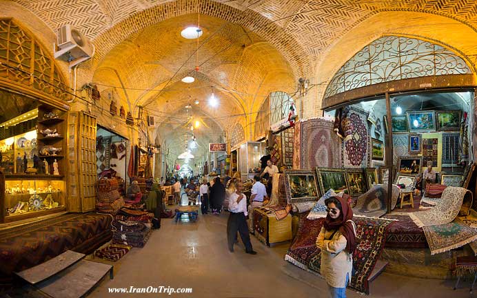
[[[267,246],[292,239],[292,215],[277,220],[272,210],[254,209],[255,237]]]

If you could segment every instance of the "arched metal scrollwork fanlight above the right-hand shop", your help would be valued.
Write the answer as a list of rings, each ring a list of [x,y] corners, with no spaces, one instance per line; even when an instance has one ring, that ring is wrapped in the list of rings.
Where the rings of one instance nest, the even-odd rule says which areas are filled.
[[[334,74],[325,90],[325,98],[376,83],[471,73],[462,58],[443,46],[408,37],[381,37],[356,53]]]

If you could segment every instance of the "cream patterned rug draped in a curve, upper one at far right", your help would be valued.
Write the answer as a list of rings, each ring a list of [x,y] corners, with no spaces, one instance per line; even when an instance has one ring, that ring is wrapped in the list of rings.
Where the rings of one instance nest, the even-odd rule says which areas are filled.
[[[418,227],[449,224],[457,217],[463,205],[469,204],[468,201],[464,201],[464,198],[468,198],[469,206],[472,206],[472,197],[469,190],[447,186],[441,197],[442,201],[436,203],[434,208],[426,211],[411,212],[409,217],[412,218]],[[468,213],[469,210],[467,210]]]

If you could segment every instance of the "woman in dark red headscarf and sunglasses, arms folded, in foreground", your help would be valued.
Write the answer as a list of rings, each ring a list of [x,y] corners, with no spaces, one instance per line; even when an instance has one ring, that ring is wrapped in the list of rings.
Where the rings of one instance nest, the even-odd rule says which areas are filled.
[[[325,199],[327,216],[321,228],[316,246],[321,249],[321,275],[329,287],[330,297],[345,298],[346,285],[352,277],[356,226],[353,211],[346,199]]]

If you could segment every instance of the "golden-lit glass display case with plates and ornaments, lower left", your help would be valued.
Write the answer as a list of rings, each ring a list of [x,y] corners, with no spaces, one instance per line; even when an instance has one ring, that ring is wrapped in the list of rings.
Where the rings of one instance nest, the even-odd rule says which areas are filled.
[[[65,210],[63,176],[6,175],[2,221],[10,222]]]

